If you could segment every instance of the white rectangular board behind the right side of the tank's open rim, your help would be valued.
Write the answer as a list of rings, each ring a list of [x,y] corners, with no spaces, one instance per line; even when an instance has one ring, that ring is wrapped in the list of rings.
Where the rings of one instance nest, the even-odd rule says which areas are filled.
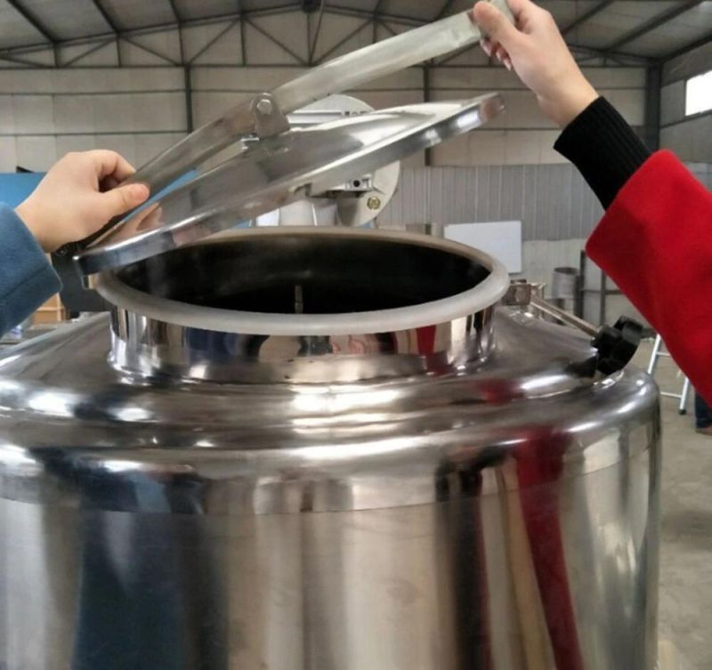
[[[445,226],[445,238],[494,256],[511,274],[522,271],[521,221],[455,223]]]

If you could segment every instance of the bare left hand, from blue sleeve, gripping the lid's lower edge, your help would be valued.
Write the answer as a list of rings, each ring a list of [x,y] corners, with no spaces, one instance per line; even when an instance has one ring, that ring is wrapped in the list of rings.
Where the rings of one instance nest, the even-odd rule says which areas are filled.
[[[72,152],[55,163],[15,212],[46,252],[91,235],[149,197],[145,184],[119,186],[134,168],[115,151]]]

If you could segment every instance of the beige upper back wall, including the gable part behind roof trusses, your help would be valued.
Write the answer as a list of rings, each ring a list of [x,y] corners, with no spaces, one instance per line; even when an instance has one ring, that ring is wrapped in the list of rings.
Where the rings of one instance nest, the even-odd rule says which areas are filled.
[[[302,73],[303,59],[308,56],[305,21],[303,12],[259,16],[246,23],[244,35],[229,20],[184,28],[190,95],[183,68],[175,67],[181,48],[174,29],[135,35],[131,41],[98,43],[95,50],[91,44],[62,46],[56,54],[60,63],[79,59],[69,69],[28,69],[5,61],[0,69],[0,171],[13,171],[17,164],[44,170],[69,150],[93,147],[117,149],[142,164],[186,132],[189,101],[193,124],[198,126],[232,104]],[[316,59],[327,54],[336,57],[370,44],[374,37],[384,39],[407,29],[380,24],[375,33],[370,27],[356,29],[363,24],[360,18],[325,13]],[[261,30],[278,36],[290,52]],[[32,54],[33,61],[48,64],[54,57],[51,51]],[[585,71],[632,125],[643,124],[644,69],[588,67]],[[514,74],[489,67],[480,49],[439,62],[429,78],[429,92],[423,69],[414,68],[370,82],[353,93],[384,108],[426,98],[468,98],[500,91],[506,114],[476,133],[435,149],[433,165],[565,163],[552,148],[558,132],[540,113],[533,95]],[[406,165],[424,162],[421,154]]]

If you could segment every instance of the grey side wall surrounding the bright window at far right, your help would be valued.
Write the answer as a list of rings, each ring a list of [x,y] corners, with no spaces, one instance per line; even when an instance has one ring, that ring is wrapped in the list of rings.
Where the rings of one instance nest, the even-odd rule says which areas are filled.
[[[712,163],[712,110],[684,116],[685,82],[708,69],[712,69],[712,44],[669,61],[663,69],[660,146],[692,163]]]

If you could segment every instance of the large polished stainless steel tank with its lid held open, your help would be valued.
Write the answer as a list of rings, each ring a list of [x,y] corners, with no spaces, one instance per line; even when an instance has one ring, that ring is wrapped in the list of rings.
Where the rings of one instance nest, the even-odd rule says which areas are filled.
[[[139,171],[158,190],[255,133],[87,241],[110,317],[0,357],[1,670],[653,670],[659,407],[630,325],[538,319],[445,240],[249,228],[340,185],[375,198],[340,207],[359,221],[380,168],[496,116],[282,113],[479,36],[462,14],[350,54]]]

